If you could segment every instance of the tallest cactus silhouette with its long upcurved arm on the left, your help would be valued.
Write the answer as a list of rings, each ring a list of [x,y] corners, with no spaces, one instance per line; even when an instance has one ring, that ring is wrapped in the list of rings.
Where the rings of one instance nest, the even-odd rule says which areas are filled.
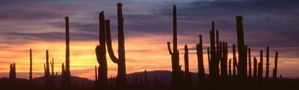
[[[127,84],[126,80],[126,65],[125,65],[125,48],[124,48],[124,33],[123,33],[123,16],[122,16],[122,4],[117,4],[117,20],[118,20],[118,58],[114,55],[113,48],[111,45],[110,26],[106,25],[106,42],[107,50],[111,60],[117,64],[118,73],[116,85],[118,87],[125,87]]]

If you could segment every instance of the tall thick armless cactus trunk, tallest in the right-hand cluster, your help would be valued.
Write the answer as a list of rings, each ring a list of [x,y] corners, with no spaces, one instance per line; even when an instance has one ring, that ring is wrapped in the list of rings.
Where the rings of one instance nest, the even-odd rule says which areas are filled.
[[[237,26],[237,43],[238,43],[238,81],[239,89],[246,86],[247,80],[247,57],[244,44],[244,31],[242,25],[242,16],[236,16]]]

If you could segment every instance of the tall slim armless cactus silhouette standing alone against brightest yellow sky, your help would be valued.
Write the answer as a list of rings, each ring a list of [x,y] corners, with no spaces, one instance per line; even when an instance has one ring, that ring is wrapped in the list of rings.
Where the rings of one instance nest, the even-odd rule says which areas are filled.
[[[69,69],[69,19],[65,17],[65,85],[70,87],[70,69]]]

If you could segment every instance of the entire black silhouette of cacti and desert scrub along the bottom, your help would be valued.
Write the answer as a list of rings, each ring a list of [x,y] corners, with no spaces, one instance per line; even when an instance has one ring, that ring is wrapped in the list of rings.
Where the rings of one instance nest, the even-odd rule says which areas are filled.
[[[199,35],[199,43],[196,44],[196,55],[198,73],[189,71],[189,49],[184,46],[184,73],[181,71],[179,63],[179,50],[177,41],[177,13],[176,6],[173,6],[173,50],[170,42],[167,42],[167,49],[171,55],[172,72],[170,76],[170,86],[167,86],[167,79],[159,77],[157,73],[149,75],[147,71],[132,73],[127,77],[125,65],[124,29],[122,4],[117,4],[118,20],[118,58],[112,48],[110,34],[110,20],[104,17],[104,12],[99,13],[99,45],[96,46],[95,53],[99,67],[95,66],[95,81],[78,80],[79,77],[70,75],[70,52],[69,52],[69,18],[66,22],[66,59],[62,64],[61,76],[54,75],[54,59],[49,64],[49,53],[46,50],[46,64],[44,64],[45,85],[39,85],[38,78],[32,78],[32,51],[30,49],[30,71],[29,80],[16,78],[15,64],[10,64],[9,78],[0,78],[0,89],[298,89],[299,83],[292,79],[285,79],[280,75],[277,80],[278,52],[275,53],[275,62],[272,78],[269,77],[270,52],[269,46],[266,52],[266,76],[263,77],[263,50],[260,50],[260,61],[253,57],[253,74],[251,65],[251,49],[245,44],[242,16],[236,16],[237,52],[236,45],[219,41],[219,31],[215,29],[215,22],[212,21],[210,34],[210,46],[207,48],[209,75],[204,71],[203,41]],[[118,74],[115,77],[107,77],[107,52],[113,63],[118,65]],[[233,57],[229,58],[229,45],[232,45]],[[254,55],[253,55],[254,56]],[[238,58],[237,58],[238,57]],[[228,64],[229,59],[229,64]],[[248,64],[247,64],[248,63]],[[51,66],[51,73],[50,73]],[[219,69],[220,67],[220,69]],[[233,68],[233,69],[231,69]],[[247,74],[248,68],[248,74]],[[154,72],[154,71],[153,71]],[[132,77],[131,77],[132,76]],[[155,77],[154,77],[155,76]],[[60,79],[58,79],[60,77]],[[150,78],[149,77],[154,77]],[[77,79],[76,79],[77,78]],[[130,79],[128,79],[130,78]],[[132,78],[132,79],[131,79]],[[194,83],[196,78],[196,83]],[[109,80],[109,82],[108,82]],[[86,81],[86,82],[85,82]],[[72,83],[71,83],[72,82]],[[271,82],[269,84],[269,82]],[[23,84],[22,84],[23,83]],[[25,85],[24,85],[25,83]],[[26,86],[27,85],[27,86]]]

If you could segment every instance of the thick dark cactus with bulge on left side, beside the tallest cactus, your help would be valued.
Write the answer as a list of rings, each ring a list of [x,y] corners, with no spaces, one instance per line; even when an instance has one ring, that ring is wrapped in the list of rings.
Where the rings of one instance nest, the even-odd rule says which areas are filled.
[[[104,12],[99,13],[99,43],[96,47],[96,55],[97,55],[97,61],[99,63],[99,86],[101,88],[105,88],[108,85],[108,77],[107,77],[107,58],[106,58],[106,32],[105,27],[107,29],[110,29],[110,21],[106,20],[104,17]],[[106,26],[105,26],[106,24]]]

